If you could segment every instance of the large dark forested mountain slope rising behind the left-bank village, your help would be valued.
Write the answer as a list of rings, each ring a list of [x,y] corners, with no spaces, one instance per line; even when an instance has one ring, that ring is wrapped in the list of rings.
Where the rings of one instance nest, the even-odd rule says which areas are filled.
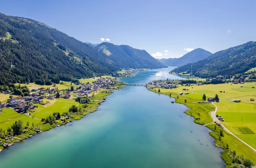
[[[144,61],[148,63],[148,60]],[[156,64],[154,68],[163,67],[156,62],[159,66]],[[128,67],[128,64],[118,64],[90,44],[46,24],[0,13],[0,85],[51,84],[60,80],[110,75]],[[152,65],[143,67],[151,68]]]

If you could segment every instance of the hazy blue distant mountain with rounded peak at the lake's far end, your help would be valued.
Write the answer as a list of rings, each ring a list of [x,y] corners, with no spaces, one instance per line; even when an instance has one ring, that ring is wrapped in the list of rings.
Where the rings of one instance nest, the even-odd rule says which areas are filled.
[[[199,60],[204,60],[208,56],[212,55],[211,52],[206,51],[201,48],[197,48],[195,50],[192,50],[191,52],[188,52],[187,54],[183,55],[180,58],[162,58],[158,60],[159,62],[162,62],[166,66],[170,67],[180,67],[182,65],[186,65],[188,63],[194,63]]]

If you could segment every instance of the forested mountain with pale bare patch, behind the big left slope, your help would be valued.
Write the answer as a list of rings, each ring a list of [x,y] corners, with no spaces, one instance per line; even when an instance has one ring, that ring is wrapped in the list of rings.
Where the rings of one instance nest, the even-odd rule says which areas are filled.
[[[117,65],[122,65],[122,68],[166,67],[145,50],[135,49],[129,45],[114,45],[112,43],[103,42],[96,46],[95,49],[108,55],[110,60],[113,60]]]

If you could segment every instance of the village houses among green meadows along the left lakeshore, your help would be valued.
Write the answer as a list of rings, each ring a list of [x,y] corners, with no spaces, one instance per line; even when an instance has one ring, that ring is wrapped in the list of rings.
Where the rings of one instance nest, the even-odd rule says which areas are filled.
[[[10,94],[10,96],[6,102],[0,103],[0,114],[1,113],[4,114],[6,110],[11,109],[14,112],[16,112],[17,115],[19,116],[22,114],[31,118],[35,118],[35,123],[39,122],[37,125],[41,124],[41,128],[42,128],[44,125],[47,125],[48,121],[46,120],[48,120],[50,116],[48,117],[47,115],[43,116],[38,114],[37,116],[43,116],[43,117],[36,118],[33,114],[38,113],[38,112],[35,112],[37,108],[44,108],[49,104],[52,104],[52,103],[54,104],[54,102],[58,102],[58,103],[64,103],[67,106],[65,107],[66,111],[70,111],[68,110],[68,107],[70,107],[72,104],[76,102],[76,107],[77,107],[76,112],[74,113],[65,112],[65,111],[58,112],[60,113],[60,116],[59,117],[56,116],[54,121],[55,124],[53,125],[48,124],[49,128],[52,128],[55,126],[58,127],[66,123],[73,122],[76,119],[80,119],[82,116],[85,116],[90,112],[94,112],[95,110],[97,110],[97,106],[99,106],[102,102],[106,101],[107,99],[106,95],[109,95],[113,93],[114,90],[125,87],[126,85],[127,84],[124,83],[123,81],[118,81],[116,77],[107,76],[107,77],[97,78],[91,83],[76,82],[73,85],[72,83],[70,83],[70,88],[68,87],[67,89],[62,89],[62,90],[59,90],[58,87],[56,86],[49,87],[49,88],[48,87],[33,88],[31,89],[31,92],[28,94],[28,96],[24,96],[24,97],[20,95],[14,95],[10,90],[6,90],[4,91],[4,94],[8,94],[8,95]],[[85,97],[88,97],[87,99],[91,101],[90,104],[79,101],[80,99],[83,99]],[[88,105],[90,105],[90,107],[88,107]],[[51,111],[53,110],[53,108],[57,108],[57,107],[54,107],[53,105],[48,106],[48,108],[51,108],[51,107],[52,107]],[[84,111],[83,109],[87,109],[87,110]],[[53,116],[54,116],[54,113],[55,112],[53,112]],[[55,113],[55,115],[57,115],[57,112]],[[11,125],[9,127],[11,127]],[[47,130],[49,128],[47,128]],[[3,150],[3,148],[8,148],[11,145],[13,145],[14,142],[19,142],[20,140],[30,138],[32,135],[35,135],[36,133],[41,133],[47,130],[44,130],[44,129],[40,130],[40,126],[33,126],[33,129],[32,129],[31,125],[28,125],[27,129],[23,129],[23,133],[21,134],[17,134],[15,132],[9,132],[8,134],[5,134],[4,138],[1,139],[0,137],[0,152]],[[15,135],[12,135],[12,134],[15,134]],[[2,149],[1,149],[1,146],[3,147]]]

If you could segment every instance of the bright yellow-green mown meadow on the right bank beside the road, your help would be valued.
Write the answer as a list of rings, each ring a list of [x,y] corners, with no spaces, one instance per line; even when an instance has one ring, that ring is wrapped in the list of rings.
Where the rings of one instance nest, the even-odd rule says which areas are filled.
[[[243,87],[240,87],[243,86]],[[237,131],[237,128],[248,128],[252,132],[256,133],[256,102],[250,101],[250,99],[256,100],[256,88],[252,88],[252,86],[256,87],[255,83],[245,83],[245,84],[208,84],[208,85],[199,85],[199,86],[181,86],[176,89],[160,89],[164,94],[172,93],[172,97],[177,97],[177,93],[179,92],[193,92],[188,95],[178,95],[179,99],[177,102],[183,102],[184,99],[187,99],[188,107],[192,107],[189,102],[190,101],[198,101],[198,98],[201,97],[202,94],[206,94],[206,97],[214,97],[215,94],[218,94],[220,101],[214,102],[217,106],[217,114],[221,115],[225,122],[221,122],[226,126],[228,130],[234,133],[237,137],[248,143],[253,148],[256,148],[256,134],[253,133],[243,133],[243,131]],[[193,87],[193,88],[192,88]],[[188,91],[182,91],[183,88],[188,89]],[[156,89],[158,90],[158,89]],[[222,91],[222,92],[220,92]],[[224,93],[225,91],[225,93]],[[198,94],[196,94],[198,93]],[[175,96],[173,95],[175,94]],[[200,96],[198,96],[200,95]],[[232,102],[231,100],[241,100],[241,102]],[[201,100],[202,101],[202,100]],[[206,115],[205,112],[201,112],[202,105],[199,103],[196,111]],[[211,104],[210,104],[211,105]],[[196,108],[195,108],[196,109]],[[214,109],[214,108],[213,108]],[[190,111],[190,110],[189,110]],[[196,115],[196,113],[195,113]],[[193,116],[193,113],[192,113]],[[204,116],[204,120],[210,117]],[[211,118],[211,117],[210,117]],[[208,120],[205,121],[210,121]],[[195,120],[196,122],[196,120]],[[248,130],[247,130],[248,131]],[[249,147],[244,145],[242,142],[237,140],[236,138],[230,136],[223,138],[228,142],[230,148],[232,150],[236,150],[239,155],[248,156],[247,158],[253,160],[256,163],[256,154]],[[253,157],[252,157],[253,156]]]

